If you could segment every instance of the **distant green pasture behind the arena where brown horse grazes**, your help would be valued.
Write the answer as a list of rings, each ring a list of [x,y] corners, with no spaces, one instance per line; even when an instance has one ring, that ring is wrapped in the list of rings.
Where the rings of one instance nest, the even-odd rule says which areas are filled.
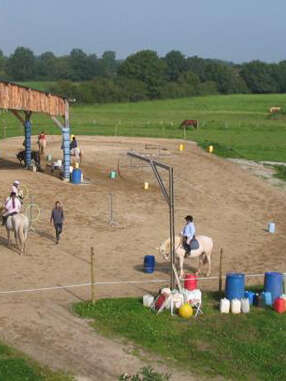
[[[32,84],[31,84],[32,85]],[[31,86],[32,87],[32,86]],[[286,95],[217,95],[139,103],[71,105],[71,128],[78,135],[121,135],[183,138],[179,124],[198,119],[197,131],[186,138],[202,146],[214,145],[215,153],[251,160],[286,161],[286,118],[270,118],[271,106],[286,106]],[[0,136],[4,121],[6,136],[23,135],[18,121],[0,116]],[[33,133],[45,129],[60,133],[43,115],[34,115]]]

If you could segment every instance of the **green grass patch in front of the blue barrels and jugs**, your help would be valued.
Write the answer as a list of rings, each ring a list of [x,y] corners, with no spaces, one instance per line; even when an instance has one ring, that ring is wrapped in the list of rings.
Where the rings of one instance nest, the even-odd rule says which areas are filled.
[[[137,298],[79,303],[74,309],[94,319],[97,332],[127,339],[180,369],[235,381],[286,380],[286,314],[253,307],[249,314],[222,315],[214,293],[204,294],[204,314],[197,320],[168,311],[156,315]]]

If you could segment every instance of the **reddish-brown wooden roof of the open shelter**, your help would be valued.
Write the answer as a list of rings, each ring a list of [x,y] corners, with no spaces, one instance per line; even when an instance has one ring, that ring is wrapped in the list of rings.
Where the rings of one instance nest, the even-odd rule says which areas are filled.
[[[65,98],[34,90],[12,82],[0,81],[0,108],[65,115]]]

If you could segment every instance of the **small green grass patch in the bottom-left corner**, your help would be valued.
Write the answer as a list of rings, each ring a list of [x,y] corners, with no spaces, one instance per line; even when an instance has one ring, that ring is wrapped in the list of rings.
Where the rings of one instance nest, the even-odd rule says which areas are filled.
[[[40,366],[24,354],[0,343],[1,381],[72,381],[62,372]]]

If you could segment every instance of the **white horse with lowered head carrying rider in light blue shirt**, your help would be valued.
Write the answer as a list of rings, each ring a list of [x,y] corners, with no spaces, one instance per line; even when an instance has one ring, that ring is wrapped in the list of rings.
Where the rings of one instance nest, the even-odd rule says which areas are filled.
[[[204,235],[198,235],[196,236],[196,239],[199,242],[199,248],[195,250],[191,250],[191,256],[189,258],[196,258],[199,257],[199,268],[197,271],[197,274],[200,273],[200,266],[201,264],[208,263],[208,272],[207,276],[210,276],[211,274],[211,255],[213,250],[213,240],[210,237],[204,236]],[[162,242],[160,245],[160,254],[163,255],[164,259],[169,260],[170,258],[170,238],[168,238],[166,241]],[[180,266],[180,277],[184,277],[184,258],[185,258],[185,249],[182,244],[182,238],[179,236],[175,237],[175,255],[176,258],[179,260],[179,266]]]

